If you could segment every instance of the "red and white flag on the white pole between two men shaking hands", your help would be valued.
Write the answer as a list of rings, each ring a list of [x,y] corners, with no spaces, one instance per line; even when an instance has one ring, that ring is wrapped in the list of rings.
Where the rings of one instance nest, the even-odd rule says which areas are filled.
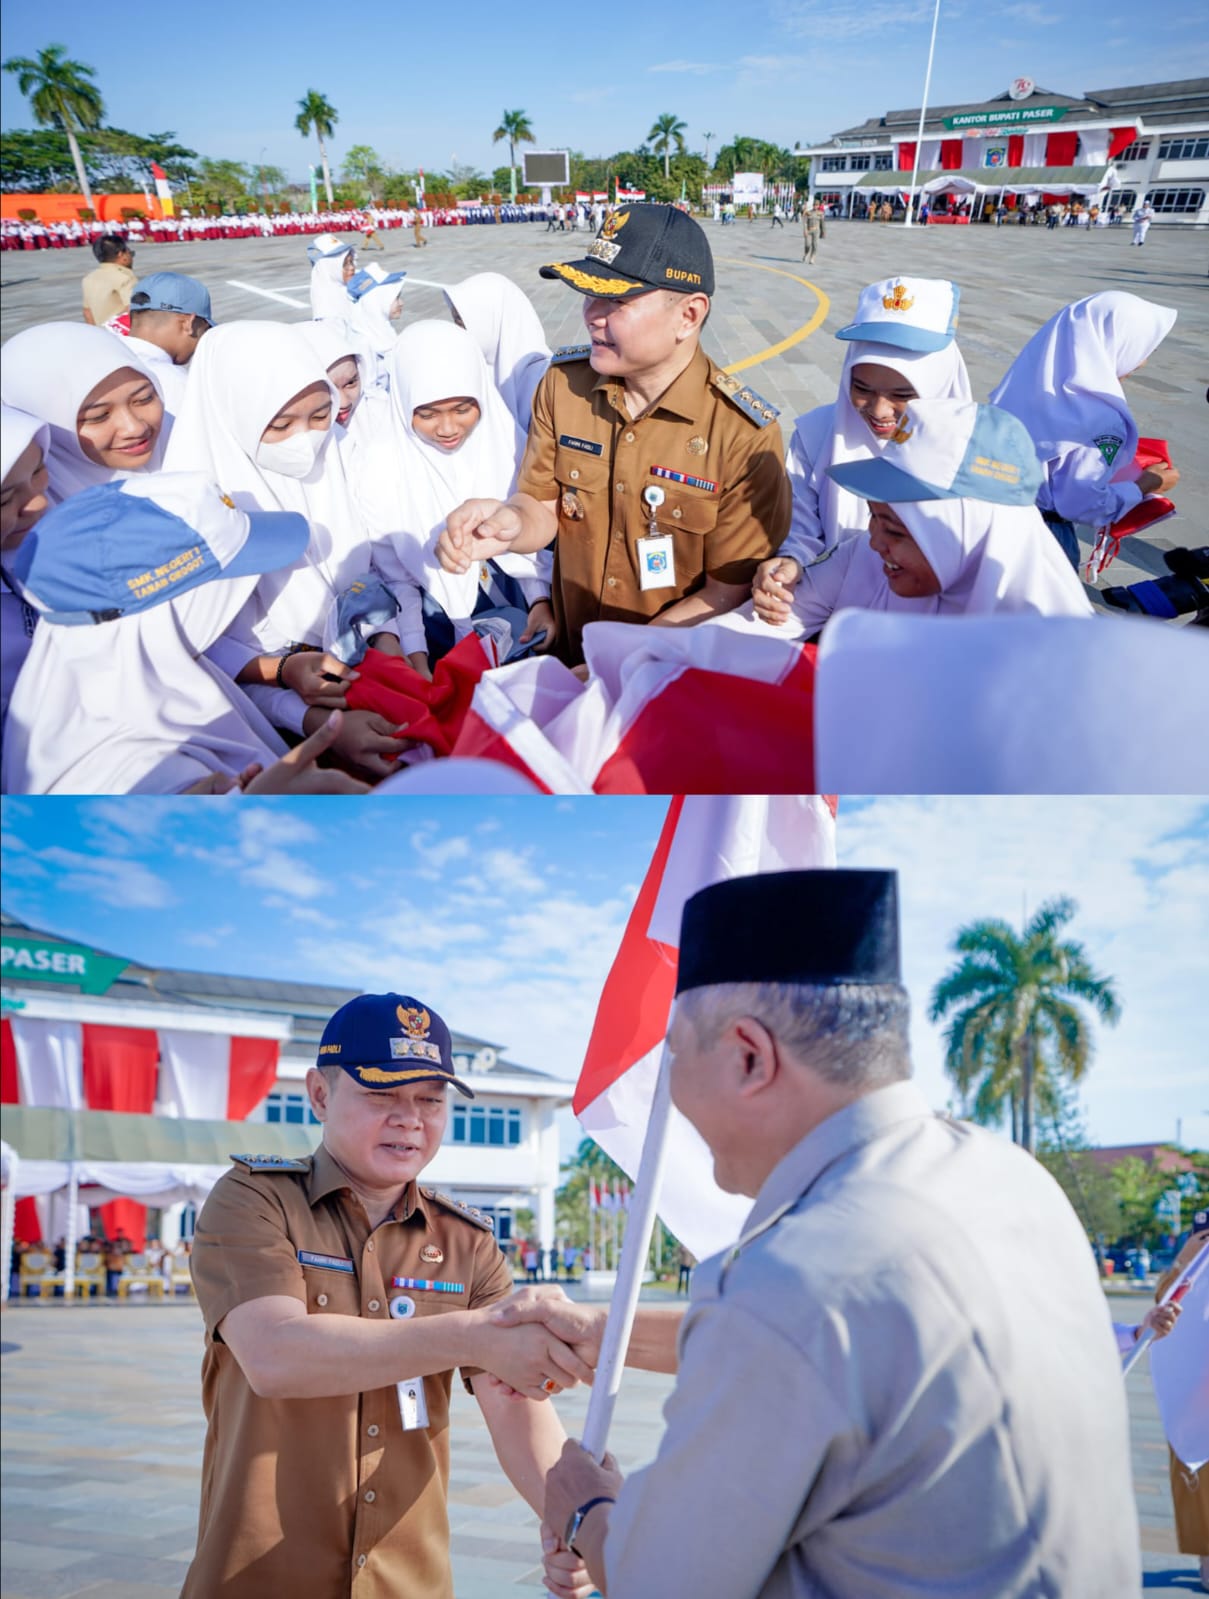
[[[684,796],[672,801],[600,996],[573,1110],[632,1178],[651,1115],[675,995],[680,918],[699,889],[756,871],[835,865],[835,803],[822,795]],[[672,1108],[659,1214],[704,1260],[739,1236],[752,1209],[713,1180],[713,1158]]]

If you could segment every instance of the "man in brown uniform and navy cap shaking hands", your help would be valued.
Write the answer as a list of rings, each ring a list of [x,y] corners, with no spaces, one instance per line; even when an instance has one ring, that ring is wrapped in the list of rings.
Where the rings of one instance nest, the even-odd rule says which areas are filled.
[[[363,995],[328,1022],[318,1060],[317,1153],[237,1156],[198,1218],[208,1431],[182,1599],[453,1599],[453,1367],[539,1513],[565,1434],[534,1401],[590,1377],[545,1329],[489,1324],[512,1289],[491,1222],[416,1182],[448,1084],[473,1097],[445,1022]]]

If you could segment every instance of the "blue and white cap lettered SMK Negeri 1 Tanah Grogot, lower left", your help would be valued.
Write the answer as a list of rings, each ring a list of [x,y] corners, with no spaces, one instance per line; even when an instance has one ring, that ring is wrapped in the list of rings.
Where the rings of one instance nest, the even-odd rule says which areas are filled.
[[[293,566],[310,539],[296,512],[248,512],[203,472],[149,472],[72,494],[37,521],[8,572],[43,620],[117,622],[217,577]]]

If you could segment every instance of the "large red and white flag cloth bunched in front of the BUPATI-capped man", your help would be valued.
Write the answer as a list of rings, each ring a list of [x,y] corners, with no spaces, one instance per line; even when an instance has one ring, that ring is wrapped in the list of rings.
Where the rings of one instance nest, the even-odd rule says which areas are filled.
[[[726,627],[593,622],[589,681],[560,660],[486,673],[453,753],[547,793],[808,793],[814,646]]]

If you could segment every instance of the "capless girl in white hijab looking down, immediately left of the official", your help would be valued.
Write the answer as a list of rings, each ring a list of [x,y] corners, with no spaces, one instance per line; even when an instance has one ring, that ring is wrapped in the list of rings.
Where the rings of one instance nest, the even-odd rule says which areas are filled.
[[[408,660],[430,675],[485,609],[528,616],[513,643],[528,643],[539,628],[552,635],[549,584],[531,555],[475,561],[462,574],[437,561],[449,512],[465,499],[507,499],[525,448],[475,341],[448,321],[411,323],[390,366],[390,427],[366,451],[357,491],[374,566],[400,603]]]

